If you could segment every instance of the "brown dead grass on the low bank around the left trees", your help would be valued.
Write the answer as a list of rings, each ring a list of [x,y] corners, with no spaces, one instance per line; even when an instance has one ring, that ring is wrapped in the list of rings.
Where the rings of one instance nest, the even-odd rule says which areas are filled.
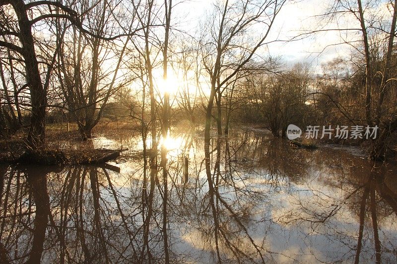
[[[131,134],[137,129],[136,122],[129,120],[112,121],[103,118],[93,129],[94,136],[115,136]],[[37,163],[54,164],[90,164],[101,160],[113,150],[94,149],[81,141],[77,124],[53,123],[46,127],[46,147],[40,151],[30,151],[24,142],[25,134],[20,131],[6,140],[0,140],[0,163]],[[65,144],[68,142],[72,146]]]

